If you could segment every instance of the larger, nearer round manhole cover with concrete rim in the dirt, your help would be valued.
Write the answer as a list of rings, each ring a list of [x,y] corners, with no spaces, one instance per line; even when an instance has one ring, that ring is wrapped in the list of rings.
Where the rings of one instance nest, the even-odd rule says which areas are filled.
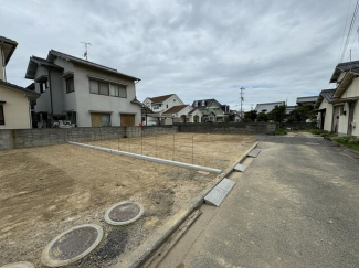
[[[96,224],[84,224],[57,235],[42,253],[42,262],[59,267],[74,262],[96,248],[104,231]]]

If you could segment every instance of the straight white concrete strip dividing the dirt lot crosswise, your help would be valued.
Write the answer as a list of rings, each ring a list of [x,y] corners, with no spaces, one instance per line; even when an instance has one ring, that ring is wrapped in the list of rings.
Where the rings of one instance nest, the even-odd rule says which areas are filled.
[[[184,169],[201,170],[201,171],[207,171],[207,172],[217,173],[217,174],[222,172],[219,169],[208,168],[208,167],[203,167],[203,165],[189,164],[189,163],[183,163],[183,162],[178,162],[178,161],[172,161],[172,160],[167,160],[167,159],[161,159],[161,158],[154,158],[154,157],[142,156],[142,154],[133,153],[133,152],[113,150],[113,149],[97,147],[97,146],[89,146],[89,144],[78,143],[78,142],[73,142],[73,141],[68,141],[68,143],[74,144],[74,146],[81,146],[81,147],[89,148],[89,149],[95,149],[95,150],[98,150],[98,151],[105,151],[105,152],[109,152],[109,153],[114,153],[114,154],[136,158],[136,159],[140,159],[140,160],[148,160],[148,161],[152,161],[152,162],[157,162],[157,163],[176,165],[176,167],[180,167],[180,168],[184,168]]]

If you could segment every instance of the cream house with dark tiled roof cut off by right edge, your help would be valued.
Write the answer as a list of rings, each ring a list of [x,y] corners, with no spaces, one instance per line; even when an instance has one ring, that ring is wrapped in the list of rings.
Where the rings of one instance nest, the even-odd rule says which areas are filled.
[[[337,88],[332,96],[334,131],[338,136],[359,137],[359,61],[336,66],[330,83]]]

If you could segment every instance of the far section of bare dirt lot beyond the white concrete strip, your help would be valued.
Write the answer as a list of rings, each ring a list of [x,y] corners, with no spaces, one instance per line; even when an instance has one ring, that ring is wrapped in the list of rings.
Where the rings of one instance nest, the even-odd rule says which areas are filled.
[[[223,170],[250,142],[251,136],[171,133],[83,143]]]

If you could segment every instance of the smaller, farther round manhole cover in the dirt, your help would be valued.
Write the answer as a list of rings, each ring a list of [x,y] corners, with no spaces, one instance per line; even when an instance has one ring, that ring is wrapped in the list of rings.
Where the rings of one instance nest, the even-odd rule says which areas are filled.
[[[109,207],[105,221],[112,225],[125,225],[135,222],[144,214],[144,207],[135,202],[125,201]]]

